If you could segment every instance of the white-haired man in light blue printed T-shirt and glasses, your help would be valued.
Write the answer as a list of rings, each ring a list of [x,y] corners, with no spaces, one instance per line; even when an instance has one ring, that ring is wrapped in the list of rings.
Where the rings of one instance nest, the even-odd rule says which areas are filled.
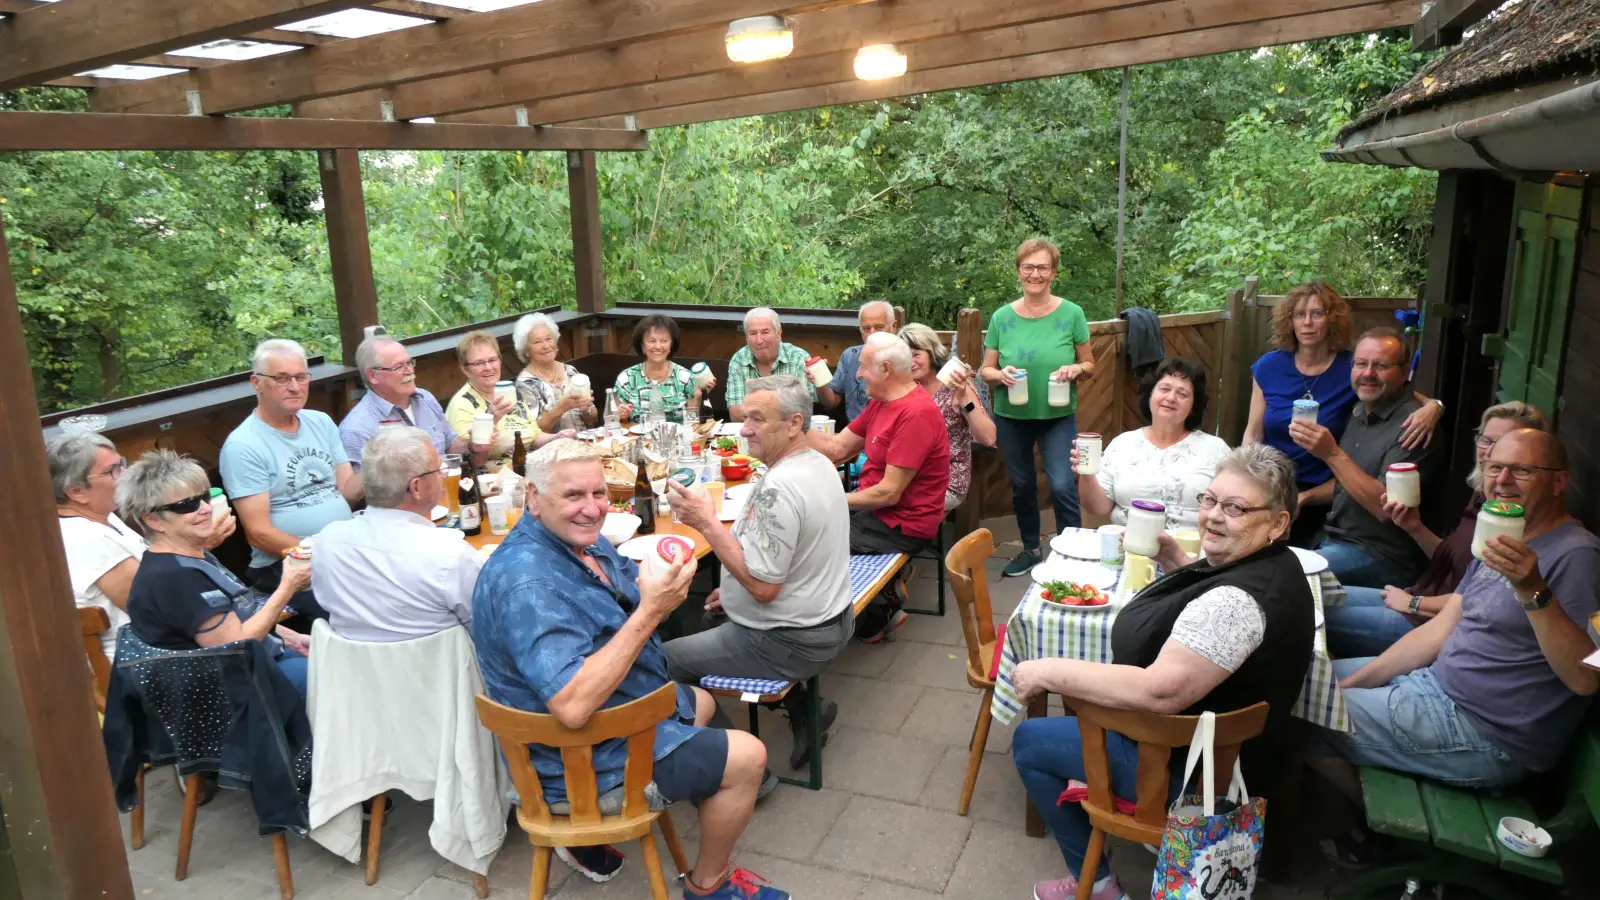
[[[310,370],[306,349],[270,340],[250,362],[256,408],[227,436],[219,466],[222,487],[250,540],[246,581],[270,593],[283,573],[283,554],[330,522],[350,517],[362,498],[362,477],[326,413],[306,408]],[[293,601],[296,612],[320,617],[310,591]]]

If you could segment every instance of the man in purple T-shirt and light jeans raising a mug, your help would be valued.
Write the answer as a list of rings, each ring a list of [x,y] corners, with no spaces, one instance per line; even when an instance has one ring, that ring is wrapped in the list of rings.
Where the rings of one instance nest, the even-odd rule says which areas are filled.
[[[1381,657],[1334,663],[1354,730],[1322,732],[1338,757],[1314,751],[1314,764],[1352,798],[1352,762],[1464,786],[1547,772],[1600,690],[1582,665],[1597,642],[1600,538],[1566,514],[1566,450],[1518,429],[1480,464],[1488,498],[1523,508],[1523,536],[1491,540],[1443,612]]]

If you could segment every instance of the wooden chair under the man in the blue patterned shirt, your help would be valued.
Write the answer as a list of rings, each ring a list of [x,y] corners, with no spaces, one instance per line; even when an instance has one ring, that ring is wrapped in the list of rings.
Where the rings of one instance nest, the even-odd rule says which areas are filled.
[[[667,900],[667,882],[661,873],[661,854],[651,826],[661,823],[661,836],[667,841],[672,865],[678,873],[688,871],[678,833],[672,817],[653,812],[645,799],[645,786],[654,772],[656,724],[672,716],[678,706],[675,684],[664,684],[650,697],[602,709],[589,717],[582,729],[571,730],[555,716],[525,713],[494,703],[485,695],[477,697],[478,721],[499,738],[506,754],[510,780],[522,798],[517,807],[517,825],[528,833],[534,846],[533,874],[528,882],[528,900],[544,897],[550,876],[550,855],[555,847],[594,847],[618,841],[638,841],[645,855],[645,871],[650,874],[650,892],[654,900]],[[611,740],[627,740],[627,764],[622,772],[622,812],[600,814],[600,791],[595,783],[594,748]],[[544,802],[544,788],[528,759],[530,743],[558,748],[565,765],[566,799],[570,815],[550,814]]]

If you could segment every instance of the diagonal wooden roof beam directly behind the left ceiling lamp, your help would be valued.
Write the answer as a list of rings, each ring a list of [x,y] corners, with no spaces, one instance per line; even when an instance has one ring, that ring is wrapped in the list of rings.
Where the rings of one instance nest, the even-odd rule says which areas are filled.
[[[997,0],[973,11],[966,0],[918,3],[862,3],[790,16],[795,51],[784,64],[805,58],[854,53],[864,43],[910,43],[978,29],[1026,26],[1146,0]],[[450,115],[507,104],[528,104],[563,94],[595,93],[672,78],[730,70],[766,70],[728,59],[723,32],[710,29],[645,40],[616,48],[571,53],[552,59],[466,72],[395,85],[384,98],[371,91],[331,96],[302,104],[296,115],[376,119],[378,101],[394,101],[397,119]]]

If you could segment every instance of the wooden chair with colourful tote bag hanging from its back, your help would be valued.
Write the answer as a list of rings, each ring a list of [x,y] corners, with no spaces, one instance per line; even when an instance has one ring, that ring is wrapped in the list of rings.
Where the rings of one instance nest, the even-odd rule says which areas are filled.
[[[1088,900],[1090,894],[1094,892],[1093,873],[1099,870],[1101,855],[1106,852],[1107,833],[1138,844],[1157,847],[1162,844],[1162,833],[1166,831],[1168,790],[1171,788],[1168,762],[1174,746],[1189,746],[1200,717],[1110,709],[1075,697],[1062,697],[1061,700],[1077,714],[1078,732],[1083,737],[1083,780],[1090,790],[1090,796],[1083,801],[1083,812],[1090,815],[1093,831],[1088,850],[1083,854],[1083,871],[1090,874],[1078,878],[1077,900]],[[1238,746],[1259,735],[1266,725],[1266,703],[1218,714],[1213,761],[1219,791],[1226,791],[1226,785],[1232,778]],[[1117,732],[1139,745],[1138,796],[1133,815],[1117,812],[1112,801],[1106,732]],[[1198,780],[1198,775],[1195,778]]]

